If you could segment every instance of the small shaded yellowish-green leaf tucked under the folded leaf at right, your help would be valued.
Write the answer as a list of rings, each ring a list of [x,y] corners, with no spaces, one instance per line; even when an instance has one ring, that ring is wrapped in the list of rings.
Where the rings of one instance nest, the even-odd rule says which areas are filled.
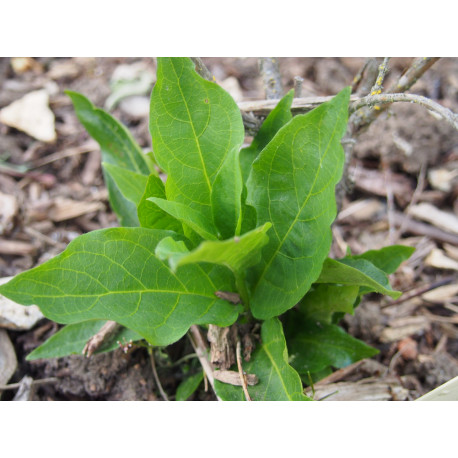
[[[330,324],[335,312],[353,314],[358,293],[355,285],[314,285],[299,303],[299,310],[307,319]]]

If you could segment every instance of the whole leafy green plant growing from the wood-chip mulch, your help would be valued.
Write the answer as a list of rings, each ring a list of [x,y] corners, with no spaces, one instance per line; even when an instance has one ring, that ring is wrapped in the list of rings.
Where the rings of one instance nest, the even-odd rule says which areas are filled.
[[[167,346],[192,325],[236,323],[251,332],[260,324],[260,341],[243,367],[258,378],[250,396],[308,400],[303,381],[377,353],[337,323],[363,294],[398,297],[387,275],[412,249],[328,258],[350,88],[295,117],[290,91],[242,148],[244,127],[232,98],[189,59],[161,58],[149,154],[109,114],[68,95],[100,144],[110,203],[123,227],[82,235],[0,287],[67,325],[30,359],[81,353],[106,320],[123,328],[99,351],[122,339]],[[158,170],[167,175],[165,185]],[[236,300],[226,300],[227,293]],[[201,379],[191,379],[178,397]],[[215,390],[225,400],[245,398],[239,386],[216,381]]]

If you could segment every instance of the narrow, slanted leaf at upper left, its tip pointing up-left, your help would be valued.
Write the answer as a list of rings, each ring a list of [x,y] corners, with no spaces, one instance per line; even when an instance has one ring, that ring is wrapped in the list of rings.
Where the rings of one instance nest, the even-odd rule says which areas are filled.
[[[96,108],[77,92],[65,91],[75,107],[76,116],[102,150],[102,160],[132,172],[149,175],[154,172],[130,132],[110,114]]]

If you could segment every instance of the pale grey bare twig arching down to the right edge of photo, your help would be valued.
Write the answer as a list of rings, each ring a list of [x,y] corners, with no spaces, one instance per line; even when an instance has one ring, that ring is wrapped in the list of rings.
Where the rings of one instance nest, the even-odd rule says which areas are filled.
[[[417,105],[423,106],[428,110],[431,110],[440,116],[442,116],[445,121],[447,121],[452,127],[458,130],[458,115],[453,113],[453,111],[448,108],[443,107],[437,102],[434,102],[427,97],[416,94],[377,94],[377,95],[368,95],[357,100],[350,108],[350,113],[355,114],[357,110],[365,106],[373,107],[378,105],[390,105],[394,102],[409,102],[416,103]]]

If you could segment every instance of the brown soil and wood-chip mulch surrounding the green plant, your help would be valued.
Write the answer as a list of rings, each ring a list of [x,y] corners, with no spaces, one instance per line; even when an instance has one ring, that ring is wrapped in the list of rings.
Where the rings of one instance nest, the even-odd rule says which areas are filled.
[[[364,61],[280,58],[283,87],[292,88],[294,78],[301,76],[303,97],[333,95],[352,83]],[[206,58],[204,62],[234,98],[264,98],[257,59]],[[386,85],[410,62],[410,58],[392,59]],[[104,107],[113,92],[110,80],[120,66],[155,72],[155,62],[150,58],[35,58],[22,67],[15,67],[9,58],[0,58],[0,109],[32,90],[46,88],[57,132],[55,142],[45,143],[0,123],[0,193],[14,196],[17,203],[9,224],[1,226],[0,278],[55,256],[82,233],[118,224],[108,205],[97,144],[78,122],[64,90],[81,92]],[[458,112],[458,59],[439,60],[411,92]],[[148,94],[138,97],[144,103]],[[119,103],[111,113],[127,125],[143,148],[149,149],[148,119],[141,106]],[[458,261],[456,231],[455,239],[452,236],[444,241],[441,234],[429,229],[422,233],[410,219],[402,219],[403,230],[396,231],[393,221],[395,214],[403,218],[409,205],[422,202],[456,214],[457,164],[457,132],[448,124],[422,107],[398,104],[391,108],[358,138],[349,164],[355,183],[334,225],[333,254],[341,256],[347,247],[358,254],[388,243],[410,244],[417,247],[416,255],[392,276],[395,288],[412,291],[449,277],[450,283],[456,284],[456,267],[447,269],[428,261],[433,250]],[[445,177],[439,183],[431,175],[437,170]],[[80,202],[84,208],[76,211]],[[434,224],[428,227],[435,229]],[[374,359],[406,390],[402,399],[416,399],[458,375],[457,318],[456,292],[433,301],[417,296],[394,305],[373,295],[342,325],[380,350]],[[71,356],[27,362],[25,356],[57,329],[43,319],[30,330],[8,331],[18,358],[18,368],[9,383],[19,382],[25,375],[35,380],[52,378],[50,383],[37,385],[31,397],[34,400],[161,400],[150,357],[142,347],[89,359]],[[185,376],[184,370],[187,374],[199,370],[196,360],[189,360],[184,370],[174,365],[192,352],[189,341],[183,338],[155,355],[159,378],[171,399]],[[354,374],[345,380],[354,380]],[[4,391],[2,399],[11,400],[14,394],[13,390]],[[214,397],[202,385],[191,399]]]

